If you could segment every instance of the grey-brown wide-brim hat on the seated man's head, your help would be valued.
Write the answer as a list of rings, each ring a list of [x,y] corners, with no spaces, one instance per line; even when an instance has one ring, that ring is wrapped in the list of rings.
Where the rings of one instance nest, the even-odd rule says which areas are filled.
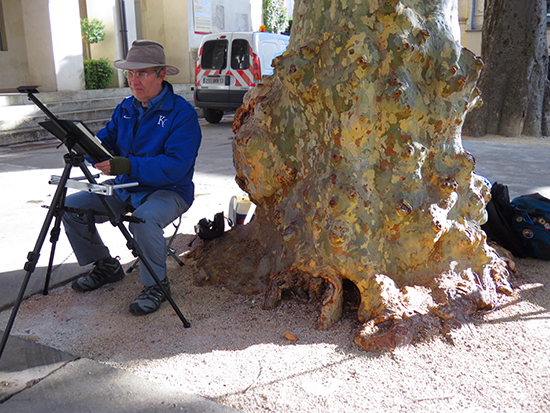
[[[166,64],[164,47],[152,40],[136,40],[128,51],[126,59],[116,60],[113,66],[124,70],[146,69],[148,67],[163,67],[167,75],[177,75],[177,67]]]

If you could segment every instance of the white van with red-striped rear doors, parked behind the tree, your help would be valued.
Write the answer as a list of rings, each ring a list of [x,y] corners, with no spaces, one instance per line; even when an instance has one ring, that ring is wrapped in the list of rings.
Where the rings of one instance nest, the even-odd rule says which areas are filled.
[[[289,36],[265,32],[225,32],[203,37],[195,68],[195,105],[218,123],[224,111],[243,103],[244,94],[265,75],[288,46]]]

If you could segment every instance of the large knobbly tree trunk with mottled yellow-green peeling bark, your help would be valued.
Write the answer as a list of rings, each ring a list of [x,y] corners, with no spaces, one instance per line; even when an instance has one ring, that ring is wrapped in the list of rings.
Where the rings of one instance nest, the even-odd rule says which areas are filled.
[[[287,51],[233,124],[255,218],[195,246],[197,283],[260,291],[266,308],[285,291],[319,301],[322,329],[356,293],[365,349],[510,291],[461,143],[482,64],[451,34],[451,1],[296,2]]]

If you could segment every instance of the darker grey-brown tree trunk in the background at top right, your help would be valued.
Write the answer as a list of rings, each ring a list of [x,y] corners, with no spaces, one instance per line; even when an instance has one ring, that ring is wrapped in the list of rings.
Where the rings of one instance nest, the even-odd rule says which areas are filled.
[[[466,117],[465,135],[549,134],[546,1],[485,0],[483,106]]]

